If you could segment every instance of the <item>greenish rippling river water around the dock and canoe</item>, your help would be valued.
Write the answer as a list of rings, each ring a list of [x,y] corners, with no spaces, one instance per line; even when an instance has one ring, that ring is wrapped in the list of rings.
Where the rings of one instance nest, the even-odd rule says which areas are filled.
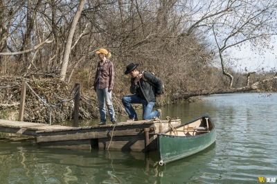
[[[35,140],[0,139],[1,183],[260,183],[277,178],[277,93],[217,94],[162,108],[188,122],[208,113],[211,147],[166,166],[156,151],[46,149]],[[127,116],[120,116],[123,120]],[[82,122],[95,125],[99,120]],[[259,181],[259,177],[260,180]],[[263,178],[262,178],[263,177]],[[267,178],[267,179],[266,179]]]

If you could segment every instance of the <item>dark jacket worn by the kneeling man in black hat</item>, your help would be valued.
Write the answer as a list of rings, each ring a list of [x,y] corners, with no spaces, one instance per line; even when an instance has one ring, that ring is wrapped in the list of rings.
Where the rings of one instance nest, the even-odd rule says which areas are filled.
[[[141,73],[142,72],[139,71],[139,74]],[[156,77],[155,75],[152,75],[152,73],[148,73],[148,72],[143,72],[143,77],[145,77],[146,80],[148,80],[155,86],[153,86],[149,82],[146,82],[145,80],[143,80],[143,78],[141,78],[139,82],[135,85],[134,78],[131,78],[130,92],[132,94],[135,94],[135,93],[138,94],[136,89],[141,87],[141,91],[143,92],[145,99],[148,102],[155,102],[156,101],[155,94],[157,93],[157,95],[161,95],[163,93],[163,81],[159,77]]]

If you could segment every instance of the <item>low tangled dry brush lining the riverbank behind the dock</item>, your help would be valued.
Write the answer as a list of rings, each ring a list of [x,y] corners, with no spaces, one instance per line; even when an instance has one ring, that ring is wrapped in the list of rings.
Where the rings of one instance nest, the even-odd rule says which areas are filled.
[[[54,105],[60,103],[62,100],[69,97],[69,93],[73,88],[73,82],[67,83],[59,78],[41,78],[34,80],[28,78],[18,78],[18,77],[4,77],[0,81],[1,95],[0,95],[0,118],[6,120],[18,120],[19,116],[19,102],[21,98],[21,82],[25,80],[30,88],[26,88],[26,104],[24,112],[24,121],[26,122],[49,122],[49,107],[44,104],[46,102],[49,105]],[[75,82],[80,82],[75,78]],[[17,84],[17,86],[14,86]],[[79,106],[79,119],[89,120],[93,118],[99,118],[98,111],[98,101],[96,93],[92,89],[91,85],[81,85],[80,88],[80,106]],[[117,82],[116,82],[117,84]],[[125,114],[125,109],[121,102],[121,98],[124,95],[129,94],[129,83],[125,86],[118,86],[115,84],[113,91],[113,101],[114,109],[116,114]],[[9,87],[12,86],[12,87]],[[168,85],[167,85],[168,86]],[[244,91],[244,92],[261,92],[265,91],[262,89]],[[271,90],[274,92],[276,90]],[[213,93],[237,93],[240,91],[233,90],[215,90],[204,93],[204,90],[199,90],[196,92],[183,93],[176,95],[175,90],[166,91],[166,93],[161,97],[157,98],[155,107],[165,106],[168,104],[176,104],[179,102],[197,102],[202,100],[203,95],[210,95]],[[243,92],[243,91],[242,91]],[[269,91],[270,92],[270,91]],[[45,100],[42,102],[41,99]],[[134,104],[135,109],[141,109],[141,105]],[[70,120],[73,118],[74,101],[61,103],[60,106],[51,108],[51,122],[53,125],[63,125],[65,120]]]

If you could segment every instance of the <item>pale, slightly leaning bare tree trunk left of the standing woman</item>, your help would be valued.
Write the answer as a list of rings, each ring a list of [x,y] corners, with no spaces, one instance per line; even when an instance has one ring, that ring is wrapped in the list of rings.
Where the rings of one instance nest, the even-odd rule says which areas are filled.
[[[69,36],[67,37],[66,48],[64,50],[64,59],[62,60],[62,69],[60,72],[61,80],[64,80],[65,75],[66,75],[67,65],[69,64],[69,55],[71,52],[72,39],[73,39],[73,35],[75,33],[75,28],[77,26],[78,20],[80,18],[81,12],[82,12],[82,8],[84,8],[84,3],[86,3],[86,0],[80,1],[78,10],[73,18],[71,28],[69,30]]]

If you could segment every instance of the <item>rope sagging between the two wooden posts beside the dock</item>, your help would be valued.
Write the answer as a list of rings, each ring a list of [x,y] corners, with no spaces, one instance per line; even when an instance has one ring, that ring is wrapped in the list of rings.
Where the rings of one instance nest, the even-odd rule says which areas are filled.
[[[78,93],[80,92],[80,84],[79,85],[75,85],[73,87],[73,89],[71,90],[71,92],[69,93],[69,95],[67,95],[66,98],[64,98],[64,100],[61,100],[60,102],[58,102],[57,104],[48,104],[46,102],[46,100],[42,97],[40,98],[39,95],[37,95],[37,93],[35,93],[35,91],[30,87],[30,85],[26,82],[26,85],[29,87],[30,91],[32,91],[39,100],[41,100],[44,104],[46,104],[47,107],[49,107],[49,124],[51,125],[51,119],[52,119],[52,108],[53,107],[59,107],[61,104],[65,103],[65,102],[70,102],[72,100],[74,100],[74,98],[76,97],[76,95],[78,95]],[[73,91],[75,91],[75,94],[73,95],[72,98],[69,99],[69,97],[72,95]]]

